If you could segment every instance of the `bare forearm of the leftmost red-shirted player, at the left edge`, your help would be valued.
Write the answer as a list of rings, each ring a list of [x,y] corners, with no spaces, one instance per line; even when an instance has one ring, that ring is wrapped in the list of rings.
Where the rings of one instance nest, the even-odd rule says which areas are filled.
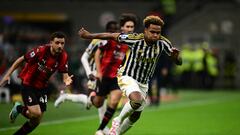
[[[10,76],[22,63],[24,62],[24,56],[19,57],[9,68],[7,73],[4,75],[0,81],[0,87],[3,87],[6,83],[10,83]]]

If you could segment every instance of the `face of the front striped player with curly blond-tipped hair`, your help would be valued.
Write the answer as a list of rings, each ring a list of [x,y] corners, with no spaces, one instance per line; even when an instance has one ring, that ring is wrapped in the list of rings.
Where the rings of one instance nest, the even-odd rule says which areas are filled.
[[[160,38],[161,26],[150,24],[148,28],[145,28],[144,34],[148,42],[155,42]]]

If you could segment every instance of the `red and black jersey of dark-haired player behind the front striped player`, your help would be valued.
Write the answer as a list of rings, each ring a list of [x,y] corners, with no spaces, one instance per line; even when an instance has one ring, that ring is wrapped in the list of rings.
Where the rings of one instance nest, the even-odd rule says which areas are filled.
[[[128,46],[115,40],[107,40],[99,46],[102,51],[101,72],[103,77],[115,78],[122,64]]]

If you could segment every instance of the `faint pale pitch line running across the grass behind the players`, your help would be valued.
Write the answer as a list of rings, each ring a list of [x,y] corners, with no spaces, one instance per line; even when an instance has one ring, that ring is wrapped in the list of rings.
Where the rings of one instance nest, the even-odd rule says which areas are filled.
[[[196,101],[190,101],[190,102],[184,102],[184,103],[177,103],[177,104],[171,104],[167,106],[162,106],[158,108],[149,108],[145,110],[146,112],[151,112],[151,111],[156,111],[156,110],[171,110],[171,109],[176,109],[176,108],[184,108],[184,107],[192,107],[192,106],[201,106],[201,105],[206,105],[206,104],[215,104],[219,102],[224,102],[224,101],[231,101],[236,98],[222,98],[221,100],[219,99],[204,99],[204,100],[196,100]],[[90,115],[90,116],[84,116],[84,117],[76,117],[76,118],[68,118],[68,119],[62,119],[62,120],[54,120],[54,121],[48,121],[48,122],[43,122],[41,123],[41,126],[46,126],[46,125],[54,125],[54,124],[62,124],[66,122],[74,122],[74,121],[85,121],[85,120],[92,120],[97,118],[98,115]],[[0,131],[7,131],[7,130],[12,130],[12,129],[17,129],[19,126],[14,126],[14,127],[6,127],[6,128],[0,128]]]

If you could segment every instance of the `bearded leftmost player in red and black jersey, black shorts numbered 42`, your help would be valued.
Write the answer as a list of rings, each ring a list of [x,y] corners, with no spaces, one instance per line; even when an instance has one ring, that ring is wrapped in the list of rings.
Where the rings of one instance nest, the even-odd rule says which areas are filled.
[[[9,114],[10,122],[14,122],[21,113],[29,121],[17,130],[14,135],[26,135],[39,124],[47,108],[46,86],[51,75],[58,70],[63,74],[66,86],[72,83],[73,75],[68,75],[68,58],[64,51],[66,36],[63,32],[54,32],[50,43],[38,46],[19,57],[0,81],[0,86],[10,82],[10,76],[21,64],[26,62],[19,77],[22,80],[21,93],[24,105],[16,102]]]

